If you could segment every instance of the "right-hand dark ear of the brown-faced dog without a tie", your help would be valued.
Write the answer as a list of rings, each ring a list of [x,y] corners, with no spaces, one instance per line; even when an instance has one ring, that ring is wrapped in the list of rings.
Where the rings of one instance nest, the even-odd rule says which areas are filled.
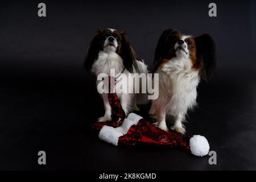
[[[216,65],[216,46],[213,38],[209,34],[197,36],[196,57],[200,65],[199,74],[205,81],[212,75]]]

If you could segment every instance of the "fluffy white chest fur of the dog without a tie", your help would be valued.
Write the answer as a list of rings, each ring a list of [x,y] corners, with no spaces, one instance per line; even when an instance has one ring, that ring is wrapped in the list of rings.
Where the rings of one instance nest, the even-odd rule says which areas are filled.
[[[199,71],[192,69],[189,59],[171,59],[158,70],[159,97],[164,97],[167,114],[186,113],[196,105]]]

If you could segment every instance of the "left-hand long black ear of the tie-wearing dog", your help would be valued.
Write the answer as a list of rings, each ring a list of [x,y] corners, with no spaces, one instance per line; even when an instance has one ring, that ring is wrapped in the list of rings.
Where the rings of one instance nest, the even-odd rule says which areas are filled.
[[[101,49],[101,30],[98,29],[96,34],[94,35],[94,38],[92,39],[92,42],[90,42],[90,45],[85,55],[84,67],[86,71],[90,71],[90,69],[92,69],[92,65],[94,61],[98,59],[98,52]]]

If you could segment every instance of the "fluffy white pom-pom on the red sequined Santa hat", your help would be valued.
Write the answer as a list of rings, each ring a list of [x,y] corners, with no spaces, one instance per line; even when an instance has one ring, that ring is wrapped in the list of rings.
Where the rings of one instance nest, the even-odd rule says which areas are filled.
[[[189,140],[191,153],[196,156],[207,155],[210,149],[207,139],[201,135],[193,135]]]

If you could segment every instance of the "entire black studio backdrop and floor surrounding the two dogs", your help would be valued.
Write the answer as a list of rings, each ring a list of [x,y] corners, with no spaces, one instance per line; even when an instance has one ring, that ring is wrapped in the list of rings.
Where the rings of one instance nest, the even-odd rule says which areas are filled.
[[[254,1],[214,1],[214,18],[212,1],[43,2],[45,18],[39,1],[0,4],[0,169],[256,169]],[[97,28],[126,30],[149,67],[167,28],[213,36],[216,73],[200,83],[185,126],[207,137],[217,165],[170,148],[114,147],[88,130],[104,114],[94,76],[82,68]],[[37,163],[40,150],[46,166]]]

